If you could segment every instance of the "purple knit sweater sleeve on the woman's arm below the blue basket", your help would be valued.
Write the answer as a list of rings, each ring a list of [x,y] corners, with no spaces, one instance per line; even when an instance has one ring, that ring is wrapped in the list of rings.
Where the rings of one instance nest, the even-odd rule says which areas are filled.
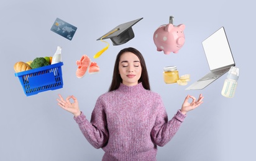
[[[103,104],[99,99],[91,114],[91,122],[86,119],[83,112],[80,116],[74,117],[74,119],[78,123],[83,135],[93,147],[99,149],[105,146],[109,133],[107,131],[106,113],[104,113]]]

